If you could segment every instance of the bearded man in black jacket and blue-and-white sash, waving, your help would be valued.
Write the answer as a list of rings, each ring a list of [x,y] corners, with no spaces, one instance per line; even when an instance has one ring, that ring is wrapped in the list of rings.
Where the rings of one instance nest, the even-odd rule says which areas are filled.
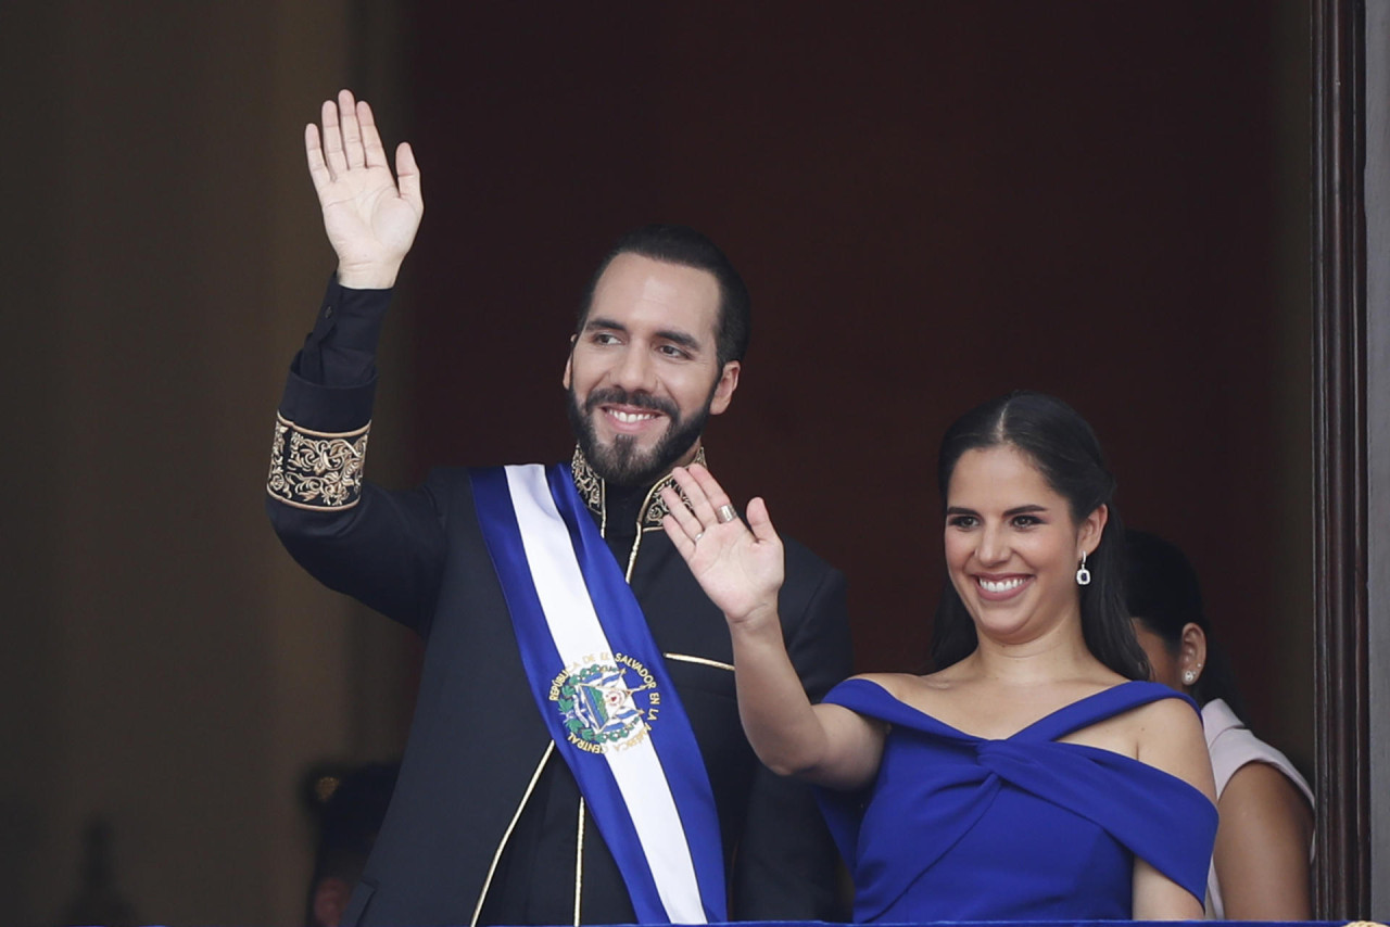
[[[296,356],[267,507],[324,584],[425,639],[391,809],[346,924],[834,920],[810,795],[758,763],[724,617],[662,531],[738,388],[748,293],[703,235],[652,225],[599,267],[562,382],[570,461],[363,479],[375,346],[424,200],[346,90],[306,129],[336,279]],[[735,518],[733,510],[721,513]],[[808,694],[848,674],[844,578],[787,543]]]

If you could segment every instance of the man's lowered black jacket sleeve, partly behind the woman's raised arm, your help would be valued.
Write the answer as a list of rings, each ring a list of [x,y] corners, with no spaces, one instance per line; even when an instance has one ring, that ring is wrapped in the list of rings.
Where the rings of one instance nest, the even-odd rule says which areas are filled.
[[[812,592],[798,614],[783,614],[787,649],[812,702],[849,675],[853,663],[844,575],[817,566],[819,575],[803,582]],[[794,577],[788,563],[788,580]],[[783,607],[792,606],[787,598]],[[848,874],[809,785],[758,763],[746,821],[734,862],[733,919],[848,920]]]

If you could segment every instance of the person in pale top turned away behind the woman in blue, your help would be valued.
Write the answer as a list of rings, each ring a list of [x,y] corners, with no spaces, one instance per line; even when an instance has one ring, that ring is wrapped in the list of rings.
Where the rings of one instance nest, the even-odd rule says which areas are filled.
[[[1232,673],[1209,639],[1202,591],[1175,545],[1126,534],[1126,598],[1154,681],[1202,706],[1220,827],[1207,878],[1216,920],[1308,920],[1312,789],[1283,753],[1255,737]]]

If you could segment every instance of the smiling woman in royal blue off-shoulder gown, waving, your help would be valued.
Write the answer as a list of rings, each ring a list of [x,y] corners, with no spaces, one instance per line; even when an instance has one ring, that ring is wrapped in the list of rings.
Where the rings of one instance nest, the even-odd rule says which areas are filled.
[[[781,542],[699,466],[664,527],[734,643],[739,712],[773,770],[821,788],[855,920],[1159,920],[1202,913],[1216,832],[1195,706],[1143,681],[1123,535],[1090,425],[1041,393],[941,445],[944,593],[929,675],[852,678],[810,705],[777,623]]]

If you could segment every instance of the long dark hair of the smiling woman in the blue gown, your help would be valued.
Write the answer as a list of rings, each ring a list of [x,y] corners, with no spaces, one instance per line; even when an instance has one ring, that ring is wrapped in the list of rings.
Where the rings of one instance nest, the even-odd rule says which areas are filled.
[[[1147,680],[1148,659],[1125,607],[1125,527],[1113,503],[1115,477],[1105,467],[1095,432],[1074,409],[1045,393],[1019,391],[977,406],[941,439],[937,481],[942,507],[960,456],[999,446],[1015,448],[1029,457],[1048,486],[1068,500],[1074,521],[1080,523],[1099,506],[1109,507],[1101,542],[1086,561],[1091,584],[1077,586],[1081,634],[1101,663],[1130,680]],[[977,645],[970,613],[947,581],[931,635],[931,663],[944,670]]]

